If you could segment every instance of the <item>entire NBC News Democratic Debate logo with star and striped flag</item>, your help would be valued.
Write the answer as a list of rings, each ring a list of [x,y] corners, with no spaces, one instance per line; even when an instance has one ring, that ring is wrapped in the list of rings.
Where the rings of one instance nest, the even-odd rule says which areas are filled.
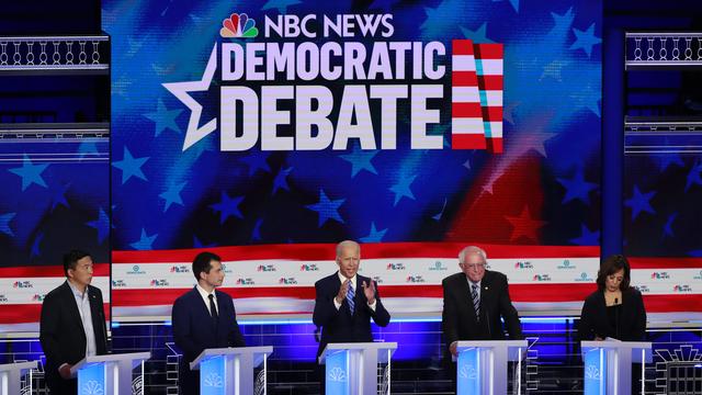
[[[217,128],[223,151],[443,149],[451,119],[451,148],[502,151],[501,44],[396,41],[392,14],[262,21],[230,14],[202,79],[163,83],[191,110],[183,150]],[[201,122],[190,92],[213,79],[219,116]]]

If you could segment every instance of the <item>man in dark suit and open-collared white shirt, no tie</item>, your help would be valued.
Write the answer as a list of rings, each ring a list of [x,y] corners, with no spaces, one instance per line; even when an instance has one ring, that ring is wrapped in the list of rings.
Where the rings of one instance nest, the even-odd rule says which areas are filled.
[[[78,392],[70,369],[86,356],[107,353],[107,328],[100,289],[92,281],[92,258],[72,250],[64,256],[66,282],[42,303],[39,341],[46,356],[46,384],[52,394]]]

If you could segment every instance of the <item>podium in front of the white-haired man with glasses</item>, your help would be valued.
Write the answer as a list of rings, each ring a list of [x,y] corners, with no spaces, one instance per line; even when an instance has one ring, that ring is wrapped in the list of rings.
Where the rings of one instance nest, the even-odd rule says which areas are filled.
[[[507,394],[507,362],[517,361],[517,388],[521,394],[521,363],[526,340],[455,341],[456,395]]]

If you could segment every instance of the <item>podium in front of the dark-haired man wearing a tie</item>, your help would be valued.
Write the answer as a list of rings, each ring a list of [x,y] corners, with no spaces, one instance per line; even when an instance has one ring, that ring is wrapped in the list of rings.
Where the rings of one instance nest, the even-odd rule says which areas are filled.
[[[206,349],[190,363],[200,370],[200,395],[253,394],[253,368],[263,363],[265,394],[265,359],[272,346]]]

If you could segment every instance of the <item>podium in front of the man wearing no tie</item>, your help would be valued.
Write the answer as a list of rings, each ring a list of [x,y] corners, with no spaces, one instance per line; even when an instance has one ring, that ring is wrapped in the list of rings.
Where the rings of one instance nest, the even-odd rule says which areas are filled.
[[[149,358],[150,352],[86,357],[70,369],[70,374],[78,375],[78,395],[132,395],[132,371]]]

